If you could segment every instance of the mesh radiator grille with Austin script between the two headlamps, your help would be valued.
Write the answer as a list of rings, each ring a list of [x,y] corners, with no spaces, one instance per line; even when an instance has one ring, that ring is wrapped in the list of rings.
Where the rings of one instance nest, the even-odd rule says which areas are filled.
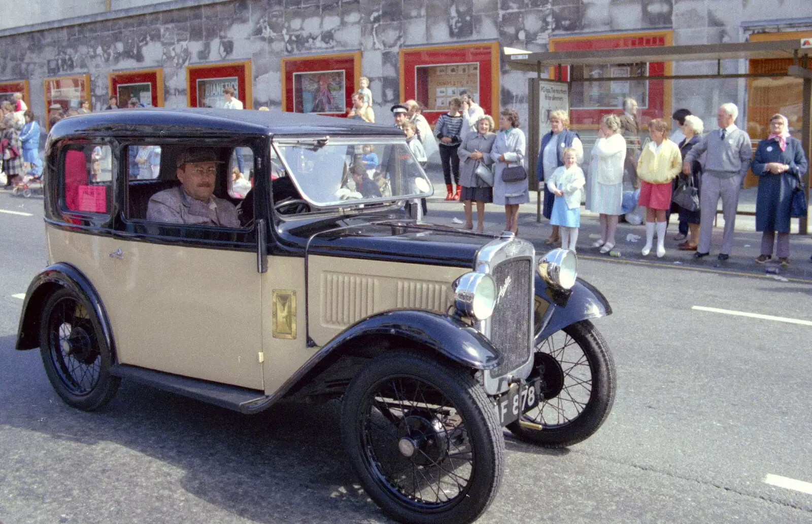
[[[504,355],[499,367],[490,370],[490,376],[503,376],[527,362],[530,357],[530,282],[533,276],[530,260],[507,260],[496,266],[493,277],[496,289],[502,294],[493,315],[490,316],[490,341]]]

